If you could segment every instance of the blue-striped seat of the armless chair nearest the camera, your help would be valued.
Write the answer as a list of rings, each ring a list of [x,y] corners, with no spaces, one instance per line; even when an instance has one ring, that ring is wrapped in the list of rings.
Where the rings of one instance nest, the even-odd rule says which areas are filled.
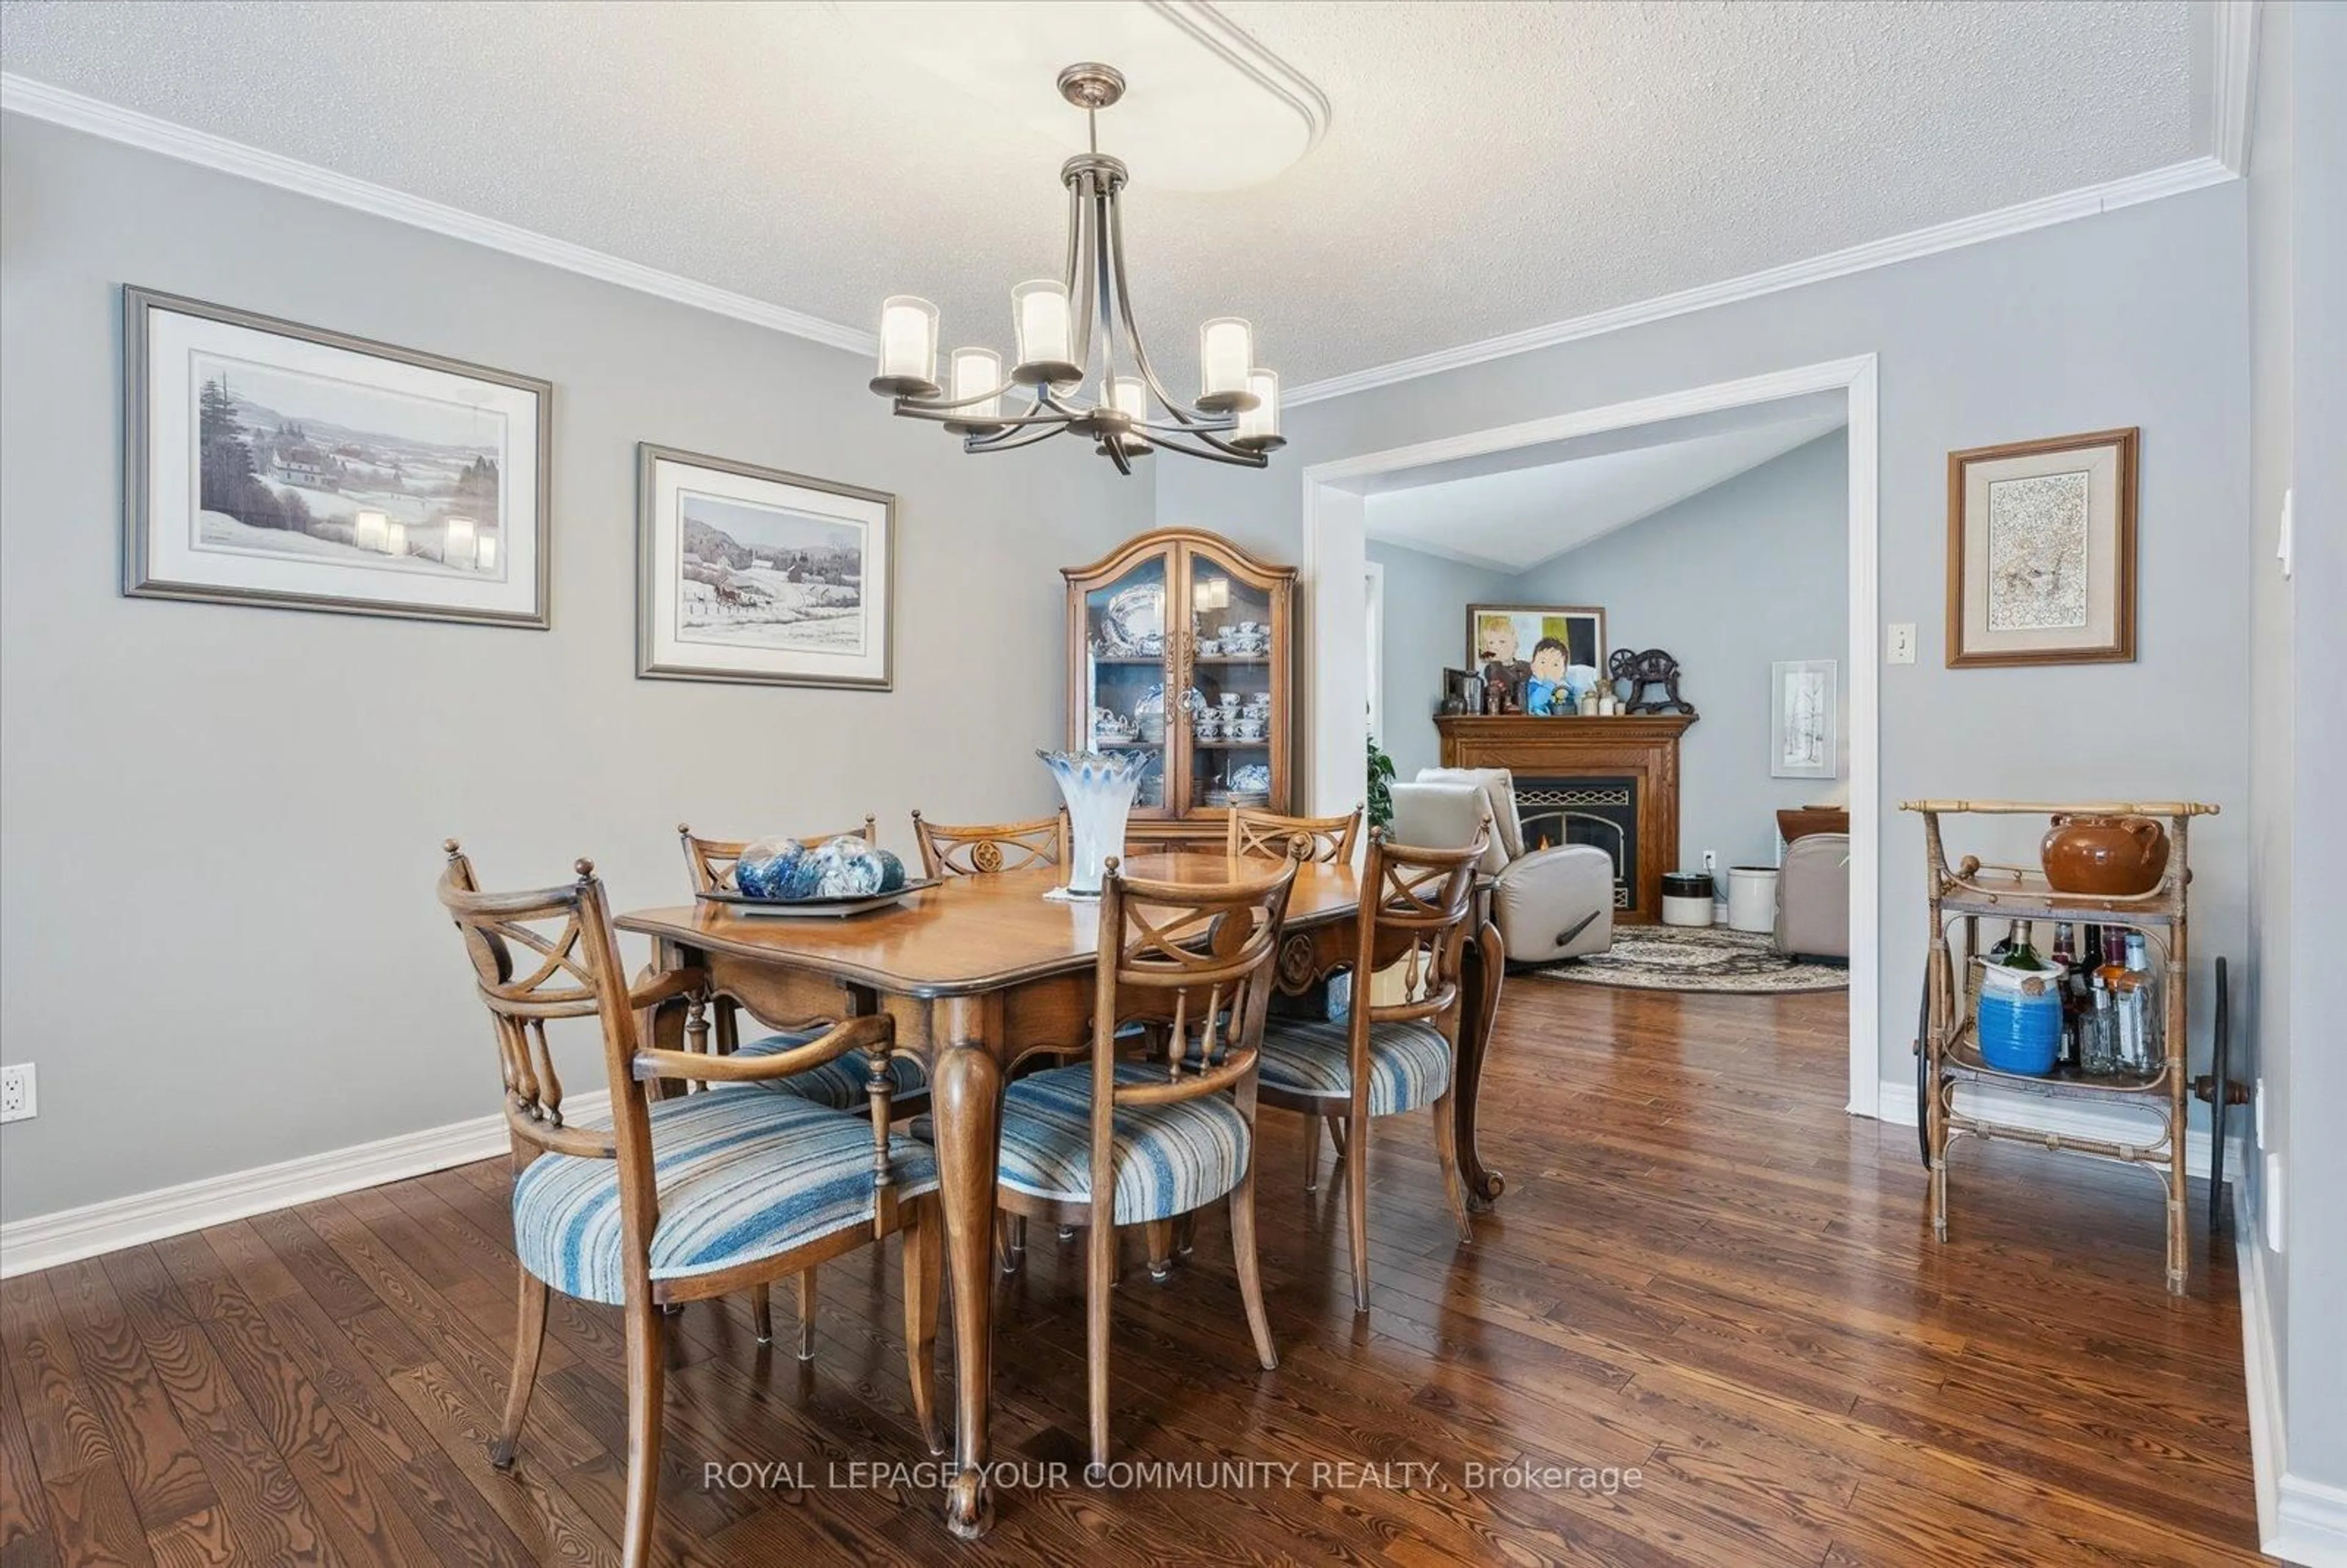
[[[1117,1063],[1122,1082],[1164,1082],[1162,1066]],[[1227,1094],[1115,1113],[1115,1223],[1188,1214],[1246,1176],[1251,1129]],[[1091,1063],[1016,1080],[1002,1094],[1002,1185],[1056,1202],[1091,1202]]]

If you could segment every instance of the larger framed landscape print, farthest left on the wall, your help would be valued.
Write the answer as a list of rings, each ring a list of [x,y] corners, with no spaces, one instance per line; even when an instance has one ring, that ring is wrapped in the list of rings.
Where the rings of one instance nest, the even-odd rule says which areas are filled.
[[[547,627],[554,387],[122,291],[122,592]]]

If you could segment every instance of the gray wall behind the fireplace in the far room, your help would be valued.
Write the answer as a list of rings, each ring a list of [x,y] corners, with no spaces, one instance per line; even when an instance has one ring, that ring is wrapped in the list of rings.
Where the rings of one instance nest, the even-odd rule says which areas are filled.
[[[1702,718],[1678,749],[1678,864],[1777,864],[1777,807],[1849,798],[1840,777],[1770,777],[1770,664],[1849,669],[1849,441],[1819,437],[1516,577],[1516,603],[1605,606],[1612,648],[1666,648]],[[1727,883],[1720,883],[1725,892]]]

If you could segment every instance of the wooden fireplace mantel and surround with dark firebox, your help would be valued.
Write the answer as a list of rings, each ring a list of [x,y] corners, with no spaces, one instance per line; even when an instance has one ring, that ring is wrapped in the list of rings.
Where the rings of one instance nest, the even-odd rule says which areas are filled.
[[[1615,864],[1615,922],[1662,915],[1678,871],[1678,737],[1695,714],[1533,718],[1443,714],[1446,768],[1507,768],[1528,850],[1596,845]]]

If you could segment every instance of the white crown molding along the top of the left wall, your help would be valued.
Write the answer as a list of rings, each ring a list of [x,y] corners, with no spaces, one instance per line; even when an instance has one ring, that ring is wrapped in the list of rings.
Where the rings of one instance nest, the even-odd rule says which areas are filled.
[[[584,244],[554,239],[552,235],[540,235],[514,223],[481,218],[476,214],[446,207],[444,202],[427,202],[422,197],[406,195],[404,190],[392,190],[390,185],[376,185],[347,174],[336,174],[333,169],[305,164],[298,157],[230,141],[228,136],[214,136],[211,131],[197,131],[185,124],[157,120],[155,115],[141,115],[138,110],[120,108],[63,87],[52,87],[49,82],[35,82],[33,77],[16,75],[12,70],[0,73],[0,110],[47,120],[49,124],[87,131],[131,148],[143,148],[148,153],[162,153],[164,157],[176,157],[202,169],[218,169],[221,174],[235,174],[263,185],[333,202],[336,207],[350,207],[352,211],[364,211],[376,218],[390,218],[392,223],[406,223],[434,235],[448,235],[451,239],[465,239],[469,244],[488,246],[491,251],[537,261],[549,268],[561,268],[563,272],[577,272],[580,277],[594,277],[596,282],[676,300],[678,305],[709,310],[713,315],[765,326],[793,338],[807,338],[810,343],[821,343],[826,347],[843,347],[854,354],[871,354],[878,350],[873,333],[854,326],[840,326],[838,322],[824,322],[821,317],[810,317],[800,310],[753,300],[746,293],[732,293],[730,289],[716,289],[690,277],[678,277],[676,272],[662,272],[660,268],[608,256],[606,251],[591,251]]]

